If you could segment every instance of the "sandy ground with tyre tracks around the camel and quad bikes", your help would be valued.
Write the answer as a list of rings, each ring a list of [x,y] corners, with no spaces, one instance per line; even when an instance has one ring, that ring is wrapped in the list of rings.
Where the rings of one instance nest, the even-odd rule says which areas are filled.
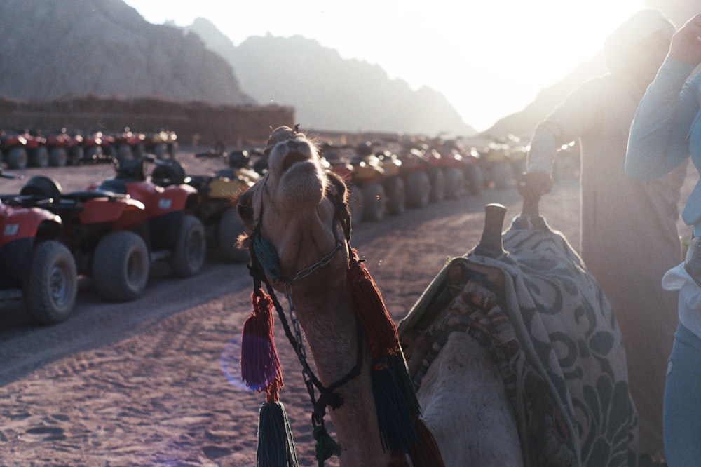
[[[179,158],[193,175],[224,167],[191,154]],[[44,173],[64,189],[79,189],[113,170]],[[22,184],[2,182],[6,193]],[[521,209],[514,188],[490,189],[354,227],[352,243],[395,320],[447,258],[478,243],[487,203],[505,205],[508,219]],[[541,214],[577,247],[576,181],[557,184]],[[264,398],[238,379],[250,292],[245,265],[211,257],[184,280],[154,268],[146,295],[128,304],[100,302],[84,280],[74,316],[50,327],[32,325],[20,302],[0,304],[0,466],[254,466]],[[280,400],[299,463],[315,466],[301,367],[279,323],[275,334],[285,377]]]

